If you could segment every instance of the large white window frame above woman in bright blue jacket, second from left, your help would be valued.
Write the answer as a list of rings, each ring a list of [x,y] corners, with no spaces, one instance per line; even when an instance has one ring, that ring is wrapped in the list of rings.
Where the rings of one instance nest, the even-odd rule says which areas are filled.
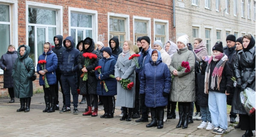
[[[53,5],[53,4],[46,4],[46,3],[40,3],[40,2],[26,2],[26,13],[28,13],[28,8],[36,8],[36,9],[46,9],[46,10],[55,10],[56,11],[56,25],[44,25],[44,24],[32,24],[32,23],[28,23],[28,14],[26,14],[26,41],[27,41],[27,45],[28,45],[28,26],[37,26],[37,27],[56,27],[56,35],[63,35],[63,9],[62,6],[59,5]],[[35,31],[36,28],[35,28]],[[48,30],[46,30],[46,35],[48,35],[47,33]],[[36,36],[35,36],[36,37]],[[46,36],[46,38],[48,38],[48,36]],[[54,40],[52,38],[52,40],[49,42],[53,43]],[[37,39],[35,38],[35,43],[37,43]],[[35,45],[35,64],[37,64],[37,58],[38,54],[37,54],[37,45]],[[35,68],[37,69],[37,67],[35,66]]]

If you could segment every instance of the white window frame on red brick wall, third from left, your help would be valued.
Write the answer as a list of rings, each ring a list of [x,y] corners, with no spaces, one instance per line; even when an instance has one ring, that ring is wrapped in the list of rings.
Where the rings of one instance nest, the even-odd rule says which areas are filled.
[[[71,13],[91,15],[92,27],[85,28],[85,27],[71,26]],[[71,36],[71,29],[76,29],[76,41],[75,41],[76,44],[79,42],[77,41],[77,30],[84,30],[84,35],[83,35],[84,39],[86,38],[85,30],[92,30],[92,39],[96,43],[98,41],[98,12],[96,10],[69,7],[69,36]]]

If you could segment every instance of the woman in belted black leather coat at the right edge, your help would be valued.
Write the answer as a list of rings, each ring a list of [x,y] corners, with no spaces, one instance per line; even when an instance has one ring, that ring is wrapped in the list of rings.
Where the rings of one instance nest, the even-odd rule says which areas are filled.
[[[233,68],[239,93],[246,88],[255,91],[255,40],[251,35],[244,35],[242,43],[243,50],[237,52]],[[237,105],[241,106],[240,103]],[[241,109],[238,112],[241,130],[246,130],[242,137],[251,137],[253,136],[252,131],[255,130],[255,112],[249,116],[243,108]]]

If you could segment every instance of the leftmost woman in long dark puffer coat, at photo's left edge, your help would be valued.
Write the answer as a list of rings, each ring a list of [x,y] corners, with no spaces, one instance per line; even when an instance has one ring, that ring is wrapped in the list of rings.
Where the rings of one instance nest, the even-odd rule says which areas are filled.
[[[13,89],[13,79],[12,79],[12,65],[14,64],[16,58],[18,58],[17,51],[13,45],[8,46],[7,53],[3,54],[0,59],[0,68],[4,71],[4,88],[8,88],[11,100],[9,103],[14,103],[14,89]]]

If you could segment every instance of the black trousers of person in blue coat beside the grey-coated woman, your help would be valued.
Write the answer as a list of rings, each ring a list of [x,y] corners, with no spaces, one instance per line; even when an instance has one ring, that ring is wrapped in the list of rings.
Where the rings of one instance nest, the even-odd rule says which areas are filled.
[[[101,100],[103,103],[104,112],[108,114],[114,114],[114,110],[115,110],[114,96],[101,96]]]

